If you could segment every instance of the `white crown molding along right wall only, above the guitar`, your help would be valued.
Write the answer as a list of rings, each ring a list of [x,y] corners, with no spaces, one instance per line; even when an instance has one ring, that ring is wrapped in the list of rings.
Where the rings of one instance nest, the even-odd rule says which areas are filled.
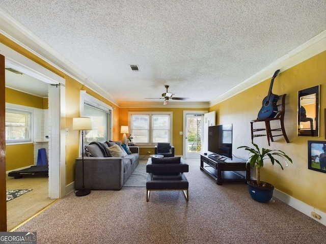
[[[209,102],[209,106],[221,103],[273,76],[275,70],[285,71],[326,50],[326,30],[277,59],[255,75],[234,86],[227,93]]]

